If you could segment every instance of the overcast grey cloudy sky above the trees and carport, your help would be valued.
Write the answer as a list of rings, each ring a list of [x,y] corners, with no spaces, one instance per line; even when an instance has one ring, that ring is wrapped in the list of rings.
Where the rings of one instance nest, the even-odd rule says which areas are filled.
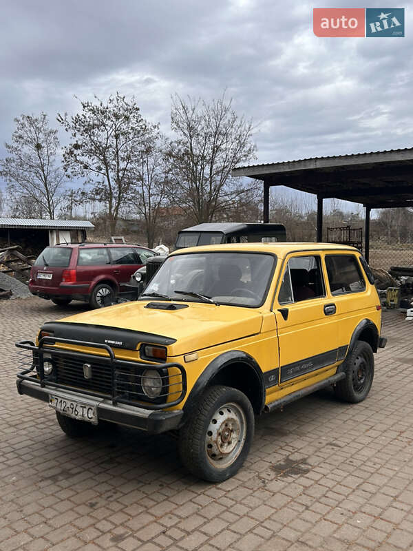
[[[382,4],[4,0],[0,156],[15,116],[44,111],[54,125],[76,112],[74,95],[116,90],[168,133],[171,94],[226,89],[257,125],[257,163],[412,147],[411,5],[396,3],[405,38],[321,39],[313,8]]]

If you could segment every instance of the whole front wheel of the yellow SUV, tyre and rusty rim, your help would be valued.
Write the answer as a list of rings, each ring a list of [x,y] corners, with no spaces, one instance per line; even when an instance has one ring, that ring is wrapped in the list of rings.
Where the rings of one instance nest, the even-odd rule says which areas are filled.
[[[253,436],[254,413],[246,395],[211,386],[180,430],[180,457],[195,477],[222,482],[240,470]]]

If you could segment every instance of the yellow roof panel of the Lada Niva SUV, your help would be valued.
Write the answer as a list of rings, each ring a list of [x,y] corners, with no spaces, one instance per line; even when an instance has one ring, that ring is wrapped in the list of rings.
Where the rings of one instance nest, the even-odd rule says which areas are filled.
[[[229,243],[224,245],[202,245],[200,247],[187,247],[178,249],[172,253],[177,254],[201,253],[201,252],[256,252],[272,253],[279,258],[284,258],[288,253],[306,251],[349,251],[359,253],[359,249],[350,245],[339,245],[337,243],[313,243],[313,242],[266,242],[266,243]]]

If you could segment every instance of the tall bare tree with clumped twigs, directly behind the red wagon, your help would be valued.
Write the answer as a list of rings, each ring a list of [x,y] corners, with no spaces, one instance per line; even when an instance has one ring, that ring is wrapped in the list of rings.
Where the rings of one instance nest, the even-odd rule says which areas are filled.
[[[128,101],[116,92],[107,103],[81,101],[81,112],[57,120],[72,142],[63,158],[67,174],[85,177],[87,195],[105,205],[109,231],[116,233],[116,222],[133,184],[134,163],[146,147],[147,135],[156,129],[140,115],[134,96]]]

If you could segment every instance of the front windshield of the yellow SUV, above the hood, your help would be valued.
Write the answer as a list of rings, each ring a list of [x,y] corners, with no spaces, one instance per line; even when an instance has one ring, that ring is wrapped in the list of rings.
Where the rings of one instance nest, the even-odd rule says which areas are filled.
[[[211,302],[208,299],[212,299],[219,304],[261,306],[274,264],[275,257],[266,253],[171,256],[153,276],[142,297],[152,294],[173,300]]]

